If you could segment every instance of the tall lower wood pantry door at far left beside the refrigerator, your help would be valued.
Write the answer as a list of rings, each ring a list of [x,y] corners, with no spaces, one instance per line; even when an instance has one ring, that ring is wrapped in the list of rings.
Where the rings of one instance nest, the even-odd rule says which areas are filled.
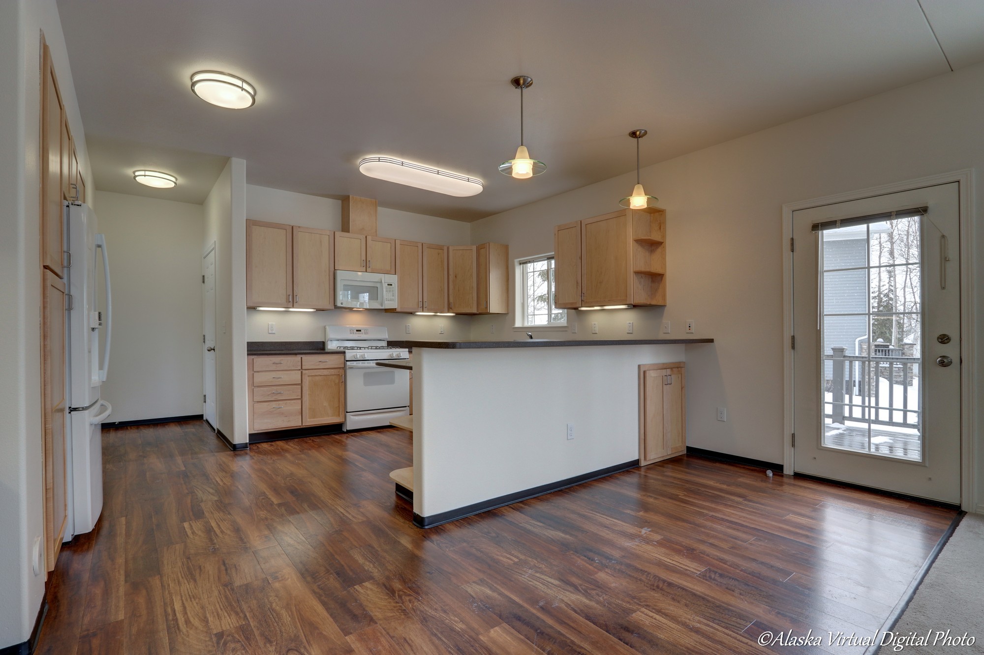
[[[65,480],[65,282],[42,272],[41,384],[44,454],[44,557],[55,567],[67,516]]]

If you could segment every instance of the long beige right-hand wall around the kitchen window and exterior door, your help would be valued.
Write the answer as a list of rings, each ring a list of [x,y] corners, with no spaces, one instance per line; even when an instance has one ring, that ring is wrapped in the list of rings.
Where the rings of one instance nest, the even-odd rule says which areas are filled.
[[[627,321],[635,323],[637,337],[661,336],[662,320],[671,322],[670,336],[683,336],[684,323],[696,321],[695,336],[715,343],[687,351],[690,445],[781,462],[782,256],[788,248],[781,236],[782,205],[960,168],[974,168],[979,184],[982,107],[984,65],[977,65],[643,169],[646,191],[667,210],[668,304],[571,312],[578,322],[572,336],[595,338],[589,324],[597,322],[596,338],[625,338]],[[658,140],[659,134],[647,139]],[[626,140],[626,149],[631,146]],[[512,258],[552,252],[555,224],[617,209],[634,177],[627,173],[474,222],[472,243],[508,243]],[[967,216],[976,226],[974,250],[982,253],[980,204]],[[977,262],[974,277],[980,280],[984,262]],[[976,293],[977,325],[984,327],[984,283]],[[471,336],[512,338],[514,319],[476,318]],[[978,371],[984,363],[980,331],[965,335],[977,352],[976,361],[966,365]],[[984,407],[984,389],[975,388],[977,407]],[[717,406],[727,407],[727,422],[715,420]],[[978,418],[977,425],[984,422]],[[980,444],[977,457],[979,504]]]

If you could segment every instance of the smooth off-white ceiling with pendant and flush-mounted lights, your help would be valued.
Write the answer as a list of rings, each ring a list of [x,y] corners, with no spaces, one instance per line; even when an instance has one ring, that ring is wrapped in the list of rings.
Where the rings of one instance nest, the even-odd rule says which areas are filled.
[[[208,155],[246,159],[251,184],[460,220],[632,170],[634,128],[649,130],[646,165],[984,59],[982,0],[58,6],[98,189],[123,189],[154,157],[189,180],[196,163],[160,153],[190,151],[206,153],[199,168]],[[189,76],[202,69],[246,78],[256,105],[198,99]],[[522,181],[497,171],[519,145],[509,79],[521,73],[534,80],[526,145],[547,164]],[[355,167],[368,154],[458,171],[485,190],[452,198],[368,178]]]

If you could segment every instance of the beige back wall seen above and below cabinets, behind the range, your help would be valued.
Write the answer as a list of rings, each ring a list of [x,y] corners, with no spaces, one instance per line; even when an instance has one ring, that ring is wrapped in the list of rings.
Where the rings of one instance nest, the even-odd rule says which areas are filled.
[[[341,202],[289,191],[247,185],[246,217],[275,223],[341,229]],[[398,209],[379,208],[379,236],[446,246],[471,243],[468,223]],[[245,266],[245,263],[244,263]],[[268,331],[275,324],[276,334]],[[470,319],[450,316],[414,316],[383,311],[269,312],[246,311],[248,341],[316,341],[325,338],[325,326],[385,326],[390,338],[466,339]],[[406,333],[410,326],[410,333]],[[441,333],[441,327],[444,333]]]

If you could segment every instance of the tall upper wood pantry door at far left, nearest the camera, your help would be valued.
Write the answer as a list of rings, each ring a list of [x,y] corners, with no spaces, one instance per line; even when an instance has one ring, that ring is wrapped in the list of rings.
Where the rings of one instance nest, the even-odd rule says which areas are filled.
[[[64,109],[51,54],[44,46],[41,89],[41,266],[62,274],[62,121]]]

